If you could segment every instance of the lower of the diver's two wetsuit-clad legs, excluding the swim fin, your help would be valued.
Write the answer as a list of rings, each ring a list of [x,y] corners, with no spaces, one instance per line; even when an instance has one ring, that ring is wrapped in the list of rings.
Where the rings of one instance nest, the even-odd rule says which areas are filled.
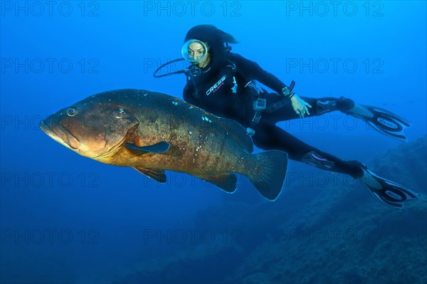
[[[252,138],[253,143],[260,149],[283,150],[288,153],[290,159],[320,169],[349,174],[355,179],[362,177],[364,173],[361,162],[343,161],[332,154],[322,152],[273,124],[258,125]]]

